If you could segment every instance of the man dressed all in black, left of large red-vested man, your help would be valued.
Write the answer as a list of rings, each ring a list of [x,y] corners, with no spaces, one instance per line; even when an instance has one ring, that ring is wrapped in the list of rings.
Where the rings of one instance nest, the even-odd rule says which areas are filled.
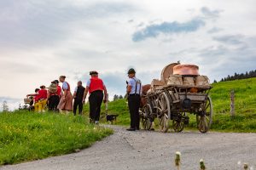
[[[84,90],[83,84],[81,81],[78,82],[77,88],[75,88],[73,93],[73,115],[76,116],[77,108],[79,106],[79,115],[82,115],[83,112],[83,97],[84,97]]]

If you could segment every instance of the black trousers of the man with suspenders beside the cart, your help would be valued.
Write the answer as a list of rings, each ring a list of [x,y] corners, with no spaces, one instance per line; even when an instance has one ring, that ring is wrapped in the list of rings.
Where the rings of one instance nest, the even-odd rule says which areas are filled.
[[[139,115],[139,108],[141,104],[141,97],[140,95],[130,95],[128,98],[128,105],[130,110],[131,116],[131,128],[140,127],[140,115]]]

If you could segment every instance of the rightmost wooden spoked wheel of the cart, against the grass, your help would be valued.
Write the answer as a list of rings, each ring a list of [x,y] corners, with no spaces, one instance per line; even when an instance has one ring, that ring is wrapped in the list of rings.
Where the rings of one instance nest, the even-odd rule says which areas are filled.
[[[211,124],[212,124],[212,99],[208,96],[207,97],[207,102],[202,108],[202,115],[197,115],[196,116],[196,122],[197,122],[197,127],[198,130],[201,133],[207,133],[207,131],[210,129]]]

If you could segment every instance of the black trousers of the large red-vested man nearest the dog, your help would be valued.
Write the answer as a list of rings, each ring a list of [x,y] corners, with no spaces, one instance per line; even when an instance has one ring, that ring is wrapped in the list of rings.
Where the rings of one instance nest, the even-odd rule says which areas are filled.
[[[90,119],[92,121],[99,121],[101,115],[101,105],[103,100],[103,92],[95,91],[90,94]]]

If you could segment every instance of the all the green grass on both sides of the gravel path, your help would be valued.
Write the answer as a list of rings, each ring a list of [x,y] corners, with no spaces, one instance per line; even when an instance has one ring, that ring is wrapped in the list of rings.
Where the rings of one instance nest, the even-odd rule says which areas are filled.
[[[256,78],[218,82],[212,86],[210,95],[214,113],[211,131],[256,133]],[[235,91],[234,119],[230,119],[231,89]],[[0,165],[73,153],[113,133],[105,127],[91,126],[88,113],[89,105],[84,106],[84,116],[28,111],[0,113]],[[129,126],[130,115],[125,99],[110,102],[108,113],[119,115],[115,124]],[[184,130],[197,131],[195,115],[189,118],[189,125]],[[104,105],[101,122],[106,123]]]

